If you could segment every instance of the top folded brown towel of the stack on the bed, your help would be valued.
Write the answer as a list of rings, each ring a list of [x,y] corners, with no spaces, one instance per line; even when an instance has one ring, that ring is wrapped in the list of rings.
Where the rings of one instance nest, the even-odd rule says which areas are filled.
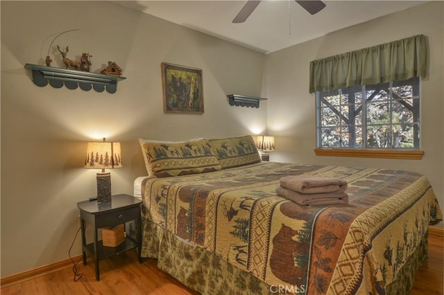
[[[301,194],[343,193],[347,189],[347,181],[343,179],[311,175],[285,176],[280,185]]]

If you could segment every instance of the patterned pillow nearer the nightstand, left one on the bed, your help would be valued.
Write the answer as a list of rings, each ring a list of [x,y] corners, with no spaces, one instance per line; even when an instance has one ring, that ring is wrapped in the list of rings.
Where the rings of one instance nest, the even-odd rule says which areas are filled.
[[[206,139],[184,143],[143,143],[142,151],[156,177],[221,170],[221,163]]]

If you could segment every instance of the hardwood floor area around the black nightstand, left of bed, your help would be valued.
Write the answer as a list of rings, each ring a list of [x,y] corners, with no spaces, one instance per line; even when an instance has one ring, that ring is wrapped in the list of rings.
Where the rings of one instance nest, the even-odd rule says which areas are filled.
[[[155,259],[146,259],[139,264],[135,251],[121,253],[100,261],[100,281],[96,281],[94,262],[78,264],[78,273],[83,277],[74,282],[71,267],[46,274],[22,283],[1,288],[6,294],[198,294],[187,289],[175,278],[157,269]]]

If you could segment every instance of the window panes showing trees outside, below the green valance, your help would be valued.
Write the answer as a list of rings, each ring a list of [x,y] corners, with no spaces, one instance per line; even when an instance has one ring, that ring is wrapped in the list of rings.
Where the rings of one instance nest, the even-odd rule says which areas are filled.
[[[419,78],[316,92],[318,147],[419,149]]]

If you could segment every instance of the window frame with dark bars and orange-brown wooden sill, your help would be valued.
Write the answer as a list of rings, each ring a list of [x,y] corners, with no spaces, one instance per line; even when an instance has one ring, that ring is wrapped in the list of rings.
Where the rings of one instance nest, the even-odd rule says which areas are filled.
[[[368,148],[366,147],[367,143],[367,137],[368,137],[368,122],[367,122],[367,96],[366,96],[366,85],[363,85],[361,87],[361,91],[363,93],[363,96],[361,98],[361,136],[363,139],[362,147],[322,147],[322,126],[321,126],[321,116],[322,116],[322,93],[321,91],[316,91],[316,148],[314,149],[314,152],[316,156],[330,156],[330,157],[365,157],[365,158],[382,158],[382,159],[422,159],[422,155],[424,152],[420,150],[421,147],[421,139],[420,139],[420,118],[421,118],[421,99],[420,99],[420,92],[421,92],[421,82],[420,77],[416,77],[418,79],[418,87],[417,91],[415,92],[415,89],[413,89],[413,97],[418,96],[418,105],[419,111],[418,111],[418,122],[413,122],[413,126],[417,124],[416,132],[418,135],[418,139],[415,139],[413,137],[414,141],[418,141],[418,147],[413,148],[393,148],[393,147],[380,147],[380,148]],[[389,82],[389,91],[390,91],[390,105],[393,103],[394,98],[391,96],[393,87],[396,87],[395,84],[398,84],[400,82],[408,81],[407,80],[401,80],[401,81],[391,81]],[[385,84],[385,83],[379,83],[379,84]],[[376,84],[376,85],[379,85]],[[370,86],[370,85],[368,85]],[[373,85],[371,85],[373,86]],[[341,91],[339,91],[341,93]],[[415,95],[416,93],[416,95]],[[415,99],[415,98],[413,98]],[[342,105],[340,104],[339,107]],[[414,106],[413,106],[414,107]],[[365,111],[364,111],[365,110]],[[350,119],[350,118],[349,118]],[[355,118],[353,118],[355,120]],[[370,124],[371,125],[371,124]],[[390,123],[388,124],[391,127],[393,127],[393,122],[390,119]],[[341,127],[341,122],[339,123],[339,127]],[[413,136],[416,134],[415,131],[413,131]]]

